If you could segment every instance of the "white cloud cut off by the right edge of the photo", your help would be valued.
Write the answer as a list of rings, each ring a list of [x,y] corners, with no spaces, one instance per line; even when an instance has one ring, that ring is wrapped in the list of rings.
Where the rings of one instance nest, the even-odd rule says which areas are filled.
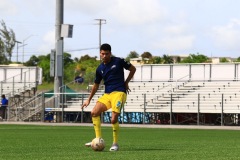
[[[225,26],[212,28],[211,37],[214,44],[224,50],[240,49],[240,19],[232,19]]]

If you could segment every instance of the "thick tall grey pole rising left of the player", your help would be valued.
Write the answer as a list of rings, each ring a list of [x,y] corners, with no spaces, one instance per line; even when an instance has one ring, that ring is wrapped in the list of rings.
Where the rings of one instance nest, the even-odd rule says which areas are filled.
[[[55,24],[55,76],[54,93],[62,93],[59,89],[63,85],[63,38],[61,37],[61,25],[63,24],[64,0],[56,0],[56,24]],[[57,94],[56,94],[57,95]],[[61,96],[60,96],[61,97]],[[60,103],[61,100],[60,100]],[[55,108],[59,108],[59,101],[55,98]],[[63,107],[63,106],[62,106]],[[61,112],[57,112],[56,121],[62,122]]]

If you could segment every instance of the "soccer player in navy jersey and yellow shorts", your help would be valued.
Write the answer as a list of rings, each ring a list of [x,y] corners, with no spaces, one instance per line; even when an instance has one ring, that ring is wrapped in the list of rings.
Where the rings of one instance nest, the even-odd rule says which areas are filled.
[[[131,91],[128,83],[134,76],[136,68],[129,62],[119,57],[112,57],[111,46],[102,44],[100,47],[100,58],[102,63],[96,69],[96,77],[94,85],[88,99],[83,103],[82,108],[87,107],[99,88],[100,82],[103,80],[105,85],[105,93],[100,97],[91,111],[92,122],[95,130],[96,138],[102,137],[100,115],[102,112],[112,109],[111,124],[113,128],[113,144],[110,151],[117,151],[119,123],[118,116],[121,108],[126,102],[127,93]],[[124,69],[129,70],[129,74],[125,80]],[[91,142],[85,146],[90,147]]]

